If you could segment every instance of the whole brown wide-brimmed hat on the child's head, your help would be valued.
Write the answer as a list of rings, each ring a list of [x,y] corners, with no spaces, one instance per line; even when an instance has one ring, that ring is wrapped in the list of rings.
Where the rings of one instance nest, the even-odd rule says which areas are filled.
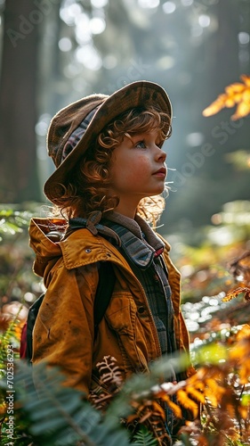
[[[57,168],[44,184],[44,194],[47,198],[51,202],[60,198],[63,193],[60,185],[67,184],[72,169],[111,120],[124,111],[147,105],[155,105],[172,118],[172,105],[165,89],[146,80],[128,84],[112,95],[85,96],[58,111],[52,118],[47,136],[48,154]],[[83,135],[78,141],[75,138],[77,144],[70,150],[65,148],[80,125],[85,128],[82,130]]]

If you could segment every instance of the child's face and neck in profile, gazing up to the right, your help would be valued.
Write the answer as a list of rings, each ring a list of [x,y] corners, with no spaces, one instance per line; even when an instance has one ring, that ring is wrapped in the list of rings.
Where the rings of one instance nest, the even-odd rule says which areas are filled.
[[[165,188],[166,154],[159,148],[159,131],[125,136],[112,154],[111,190],[119,197],[116,211],[133,217],[141,198]],[[133,215],[132,215],[133,214]]]

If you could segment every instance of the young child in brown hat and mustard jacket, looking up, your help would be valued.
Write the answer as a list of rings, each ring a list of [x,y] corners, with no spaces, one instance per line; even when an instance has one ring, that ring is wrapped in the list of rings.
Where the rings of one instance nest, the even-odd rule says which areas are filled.
[[[126,379],[149,372],[164,354],[189,351],[180,274],[169,244],[154,230],[165,204],[162,146],[171,119],[165,90],[137,81],[113,95],[69,104],[49,128],[48,153],[57,169],[44,194],[64,219],[33,219],[30,225],[34,271],[47,288],[32,361],[60,367],[66,384],[86,395],[100,384],[96,365],[104,357],[115,358]],[[115,284],[95,336],[103,262],[112,265]]]

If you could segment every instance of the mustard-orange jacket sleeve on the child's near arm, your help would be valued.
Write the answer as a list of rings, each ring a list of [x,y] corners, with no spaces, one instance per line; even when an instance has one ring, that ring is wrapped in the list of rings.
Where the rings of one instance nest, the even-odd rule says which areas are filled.
[[[64,384],[86,394],[93,368],[97,284],[96,264],[69,270],[61,263],[52,275],[33,332],[33,364],[46,361],[60,368]]]

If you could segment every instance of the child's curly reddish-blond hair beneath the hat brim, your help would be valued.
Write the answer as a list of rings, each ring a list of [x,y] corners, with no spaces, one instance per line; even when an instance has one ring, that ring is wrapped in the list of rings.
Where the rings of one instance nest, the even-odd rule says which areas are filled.
[[[111,211],[117,207],[119,198],[109,193],[111,184],[110,165],[113,151],[125,136],[159,129],[161,144],[171,136],[171,120],[168,114],[156,107],[134,108],[111,121],[95,144],[87,150],[67,185],[61,185],[64,194],[57,199],[60,213],[67,219],[87,218],[93,211]],[[167,187],[165,187],[167,193]],[[143,198],[137,207],[142,218],[155,225],[165,208],[162,195]]]

